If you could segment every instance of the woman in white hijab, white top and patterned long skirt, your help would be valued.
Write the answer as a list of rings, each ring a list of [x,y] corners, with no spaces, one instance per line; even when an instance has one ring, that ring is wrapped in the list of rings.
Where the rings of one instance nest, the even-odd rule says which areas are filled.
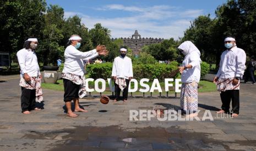
[[[188,117],[197,116],[198,109],[198,83],[200,80],[200,51],[195,45],[186,41],[179,45],[178,50],[185,56],[181,73],[181,109],[188,113]],[[189,114],[190,113],[190,114]]]

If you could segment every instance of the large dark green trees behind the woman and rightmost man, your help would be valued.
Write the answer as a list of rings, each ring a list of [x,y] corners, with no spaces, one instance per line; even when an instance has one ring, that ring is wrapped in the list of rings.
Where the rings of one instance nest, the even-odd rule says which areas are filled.
[[[255,55],[256,49],[256,1],[229,0],[220,5],[216,18],[199,16],[185,31],[182,40],[191,40],[201,50],[202,59],[216,67],[220,55],[226,48],[224,38],[235,36],[238,47],[244,49],[248,56]]]

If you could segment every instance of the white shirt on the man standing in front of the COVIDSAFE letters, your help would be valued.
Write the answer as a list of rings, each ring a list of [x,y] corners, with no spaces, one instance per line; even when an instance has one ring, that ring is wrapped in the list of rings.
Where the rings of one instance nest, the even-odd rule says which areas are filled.
[[[133,77],[132,60],[127,56],[124,58],[121,56],[116,57],[113,63],[112,76],[126,79]]]

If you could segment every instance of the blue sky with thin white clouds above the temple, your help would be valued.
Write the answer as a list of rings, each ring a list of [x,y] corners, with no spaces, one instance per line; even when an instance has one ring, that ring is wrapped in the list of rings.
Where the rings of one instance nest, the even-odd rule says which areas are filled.
[[[210,14],[227,0],[46,0],[59,5],[64,18],[78,15],[90,28],[96,23],[111,31],[111,38],[132,37],[138,30],[142,37],[178,39],[199,15]]]

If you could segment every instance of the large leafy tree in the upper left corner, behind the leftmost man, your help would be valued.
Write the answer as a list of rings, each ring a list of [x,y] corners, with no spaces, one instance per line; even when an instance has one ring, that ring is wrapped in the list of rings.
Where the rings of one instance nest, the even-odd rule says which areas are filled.
[[[0,50],[12,54],[11,59],[27,38],[41,39],[45,6],[44,0],[0,1]]]

